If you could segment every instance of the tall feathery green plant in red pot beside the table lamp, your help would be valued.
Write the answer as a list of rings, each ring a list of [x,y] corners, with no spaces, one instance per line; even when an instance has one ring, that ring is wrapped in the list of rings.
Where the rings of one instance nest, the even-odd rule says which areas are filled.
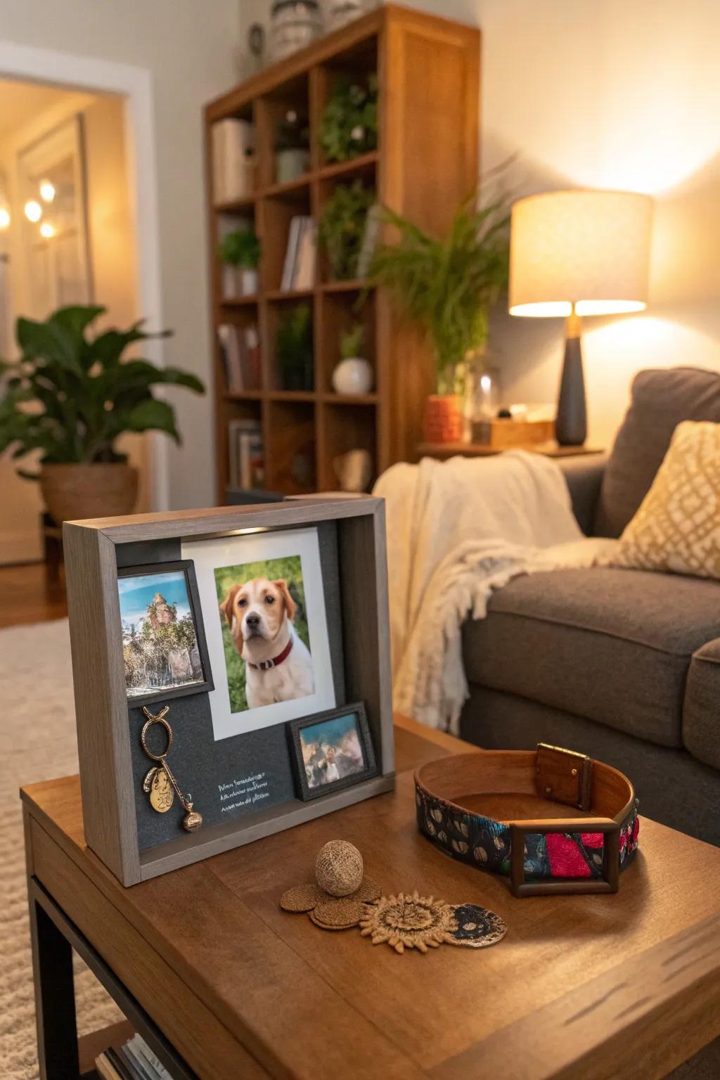
[[[507,287],[507,200],[483,208],[475,198],[462,203],[443,239],[400,214],[383,210],[382,216],[398,239],[376,247],[369,278],[390,289],[433,345],[436,393],[425,406],[425,441],[459,442],[463,364],[487,342],[490,308]]]

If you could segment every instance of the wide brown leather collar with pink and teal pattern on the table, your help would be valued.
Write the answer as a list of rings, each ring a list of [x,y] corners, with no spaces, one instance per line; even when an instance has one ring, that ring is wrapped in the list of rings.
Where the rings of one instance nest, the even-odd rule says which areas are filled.
[[[627,777],[558,746],[453,754],[418,769],[415,784],[420,832],[453,859],[508,875],[515,896],[616,892],[638,846]],[[548,802],[586,816],[548,814]]]

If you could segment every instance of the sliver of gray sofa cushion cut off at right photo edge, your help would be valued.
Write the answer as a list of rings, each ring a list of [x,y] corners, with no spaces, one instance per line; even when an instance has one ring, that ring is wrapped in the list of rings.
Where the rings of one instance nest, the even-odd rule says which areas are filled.
[[[682,711],[682,741],[698,761],[720,769],[720,639],[694,653]]]

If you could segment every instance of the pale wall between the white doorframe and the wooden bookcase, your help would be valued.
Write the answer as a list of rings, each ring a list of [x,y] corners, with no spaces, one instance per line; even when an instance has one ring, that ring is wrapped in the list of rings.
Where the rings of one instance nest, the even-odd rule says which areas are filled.
[[[151,72],[162,306],[175,330],[165,357],[209,381],[202,107],[236,81],[237,0],[0,0],[0,37]],[[209,396],[168,396],[185,435],[184,446],[168,453],[171,504],[212,504]]]

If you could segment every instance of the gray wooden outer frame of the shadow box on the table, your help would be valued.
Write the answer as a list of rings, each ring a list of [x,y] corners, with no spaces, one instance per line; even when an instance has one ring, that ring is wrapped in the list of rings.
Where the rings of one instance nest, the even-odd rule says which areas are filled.
[[[338,525],[348,701],[364,701],[379,775],[310,802],[259,811],[140,852],[127,725],[117,545],[198,540],[247,529]],[[218,854],[394,786],[385,513],[382,499],[323,497],[215,510],[66,522],[63,526],[85,839],[123,885]],[[146,559],[150,562],[150,559]]]

